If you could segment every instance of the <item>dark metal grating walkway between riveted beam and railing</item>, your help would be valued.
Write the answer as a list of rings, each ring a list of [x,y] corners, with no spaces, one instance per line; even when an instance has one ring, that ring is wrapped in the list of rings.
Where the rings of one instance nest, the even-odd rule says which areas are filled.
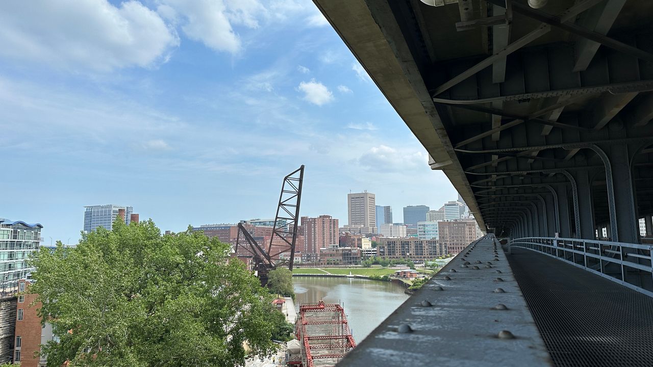
[[[653,366],[653,298],[535,251],[512,252],[556,366]]]

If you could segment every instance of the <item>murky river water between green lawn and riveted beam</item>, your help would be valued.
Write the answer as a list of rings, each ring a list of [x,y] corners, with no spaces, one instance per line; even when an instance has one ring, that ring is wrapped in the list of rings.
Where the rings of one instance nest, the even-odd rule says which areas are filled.
[[[300,303],[340,303],[357,343],[408,298],[404,287],[389,281],[344,277],[293,277],[295,306]]]

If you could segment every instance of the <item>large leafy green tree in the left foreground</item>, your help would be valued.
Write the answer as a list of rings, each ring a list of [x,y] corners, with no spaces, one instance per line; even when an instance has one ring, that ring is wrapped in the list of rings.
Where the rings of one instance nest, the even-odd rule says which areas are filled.
[[[190,227],[119,219],[76,248],[42,247],[29,291],[61,340],[43,347],[48,366],[238,366],[245,343],[269,355],[272,297],[230,252]]]

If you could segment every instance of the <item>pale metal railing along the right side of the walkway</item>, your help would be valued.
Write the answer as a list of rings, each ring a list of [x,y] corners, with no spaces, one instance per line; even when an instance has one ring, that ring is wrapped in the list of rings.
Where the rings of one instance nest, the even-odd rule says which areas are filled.
[[[653,297],[653,246],[580,238],[515,238],[508,246],[555,257]]]

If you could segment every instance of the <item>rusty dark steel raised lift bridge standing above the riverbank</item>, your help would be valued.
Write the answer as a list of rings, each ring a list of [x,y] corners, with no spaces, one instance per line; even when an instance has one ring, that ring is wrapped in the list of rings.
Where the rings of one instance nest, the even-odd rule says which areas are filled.
[[[283,178],[277,214],[274,217],[274,227],[272,227],[272,236],[270,236],[270,243],[267,247],[264,244],[259,244],[247,232],[243,223],[238,223],[238,238],[234,250],[238,253],[238,247],[242,246],[252,256],[253,270],[261,279],[261,285],[263,286],[268,283],[268,272],[270,270],[279,267],[287,267],[289,270],[293,270],[303,181],[304,165]]]

